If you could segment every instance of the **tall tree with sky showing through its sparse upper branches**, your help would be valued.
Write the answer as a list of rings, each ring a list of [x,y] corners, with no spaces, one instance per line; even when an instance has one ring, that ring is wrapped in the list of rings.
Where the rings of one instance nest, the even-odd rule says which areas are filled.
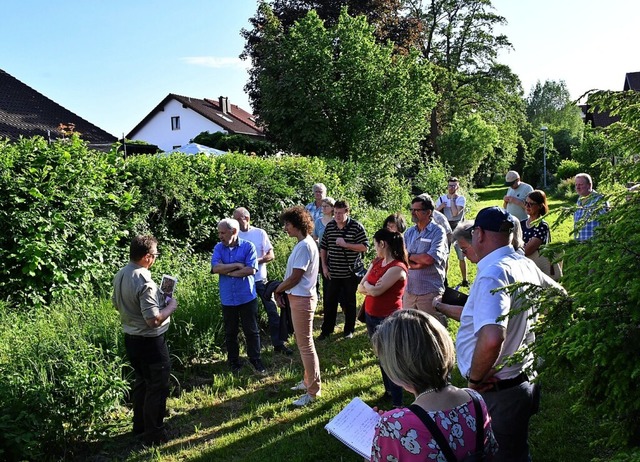
[[[436,65],[434,90],[440,96],[431,113],[430,140],[437,138],[455,118],[479,111],[497,127],[517,120],[521,105],[519,79],[497,62],[498,52],[511,47],[504,35],[493,33],[506,21],[493,12],[490,0],[412,0],[410,15],[423,25],[420,49]],[[505,132],[503,135],[506,135]],[[509,142],[508,142],[509,141]],[[517,140],[503,137],[504,154],[513,155]]]

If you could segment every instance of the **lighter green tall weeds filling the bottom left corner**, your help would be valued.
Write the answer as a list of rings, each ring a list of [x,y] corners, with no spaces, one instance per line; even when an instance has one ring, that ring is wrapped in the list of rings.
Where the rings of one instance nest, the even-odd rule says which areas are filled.
[[[29,313],[0,305],[0,459],[60,456],[105,428],[127,390],[108,339],[116,322],[95,299]]]

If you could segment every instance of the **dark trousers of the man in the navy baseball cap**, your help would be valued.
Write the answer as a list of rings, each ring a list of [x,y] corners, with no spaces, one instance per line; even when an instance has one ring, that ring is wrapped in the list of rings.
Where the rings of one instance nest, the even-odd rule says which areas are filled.
[[[534,411],[533,384],[523,382],[501,391],[483,392],[498,442],[494,462],[529,461],[529,418]]]

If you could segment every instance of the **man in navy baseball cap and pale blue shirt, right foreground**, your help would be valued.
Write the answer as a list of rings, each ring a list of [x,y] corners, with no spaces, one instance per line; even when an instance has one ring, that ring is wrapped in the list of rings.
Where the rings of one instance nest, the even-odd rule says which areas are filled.
[[[533,355],[509,361],[534,340],[533,308],[523,309],[524,288],[496,290],[515,282],[560,287],[511,245],[513,216],[500,207],[482,209],[473,223],[471,245],[478,273],[462,309],[456,341],[458,367],[468,387],[479,391],[498,441],[494,461],[525,462],[536,389],[525,372]],[[526,305],[525,305],[526,306]]]

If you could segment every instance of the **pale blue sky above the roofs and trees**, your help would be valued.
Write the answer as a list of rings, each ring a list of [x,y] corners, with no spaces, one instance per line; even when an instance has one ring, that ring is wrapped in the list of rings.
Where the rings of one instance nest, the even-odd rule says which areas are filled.
[[[565,80],[577,98],[621,90],[640,71],[640,4],[627,0],[494,0],[523,82]],[[120,136],[167,94],[228,96],[250,110],[238,59],[256,0],[7,0],[0,69]],[[590,69],[589,69],[590,68]]]

